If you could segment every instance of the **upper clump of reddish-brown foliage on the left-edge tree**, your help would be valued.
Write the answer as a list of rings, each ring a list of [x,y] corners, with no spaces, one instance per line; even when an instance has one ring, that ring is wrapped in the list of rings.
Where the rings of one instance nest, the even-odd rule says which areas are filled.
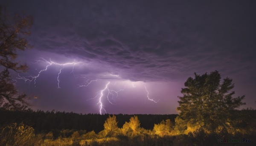
[[[24,51],[31,47],[26,37],[30,34],[32,16],[10,14],[0,7],[0,65],[17,71],[26,71],[27,66],[14,61],[17,50]]]

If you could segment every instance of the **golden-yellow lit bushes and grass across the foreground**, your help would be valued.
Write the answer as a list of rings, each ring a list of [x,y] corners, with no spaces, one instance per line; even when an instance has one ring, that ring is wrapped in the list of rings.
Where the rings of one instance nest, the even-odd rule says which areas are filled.
[[[198,146],[234,144],[216,143],[218,137],[230,137],[233,139],[245,137],[246,139],[252,140],[251,143],[246,144],[255,145],[256,143],[253,139],[256,137],[256,132],[254,130],[256,110],[244,109],[236,111],[236,116],[237,115],[239,115],[239,118],[236,119],[235,122],[237,126],[235,135],[229,133],[227,129],[218,129],[218,132],[207,132],[203,127],[195,127],[195,130],[193,130],[194,132],[189,132],[187,131],[190,126],[189,123],[185,123],[179,116],[175,118],[176,123],[174,129],[172,121],[167,119],[162,120],[162,122],[158,124],[154,124],[155,126],[151,131],[150,129],[141,128],[139,118],[137,116],[132,116],[130,121],[126,122],[122,128],[122,130],[125,130],[126,127],[126,129],[128,129],[126,130],[127,132],[124,134],[119,133],[118,135],[107,135],[106,129],[98,134],[94,131],[85,133],[85,130],[62,129],[61,131],[58,131],[57,129],[52,129],[46,135],[42,136],[42,132],[34,134],[34,129],[30,126],[21,125],[21,127],[24,127],[21,129],[6,128],[15,126],[20,127],[17,126],[17,124],[14,124],[15,126],[6,126],[2,128],[0,140],[2,140],[1,142],[3,144],[0,143],[0,145],[5,145],[6,141],[22,142],[24,139],[26,139],[26,142],[23,143],[26,146]],[[111,125],[116,127],[117,121],[114,116],[108,116],[107,120],[105,120],[105,123],[106,122],[108,124],[105,124],[105,126],[108,127],[108,125]],[[133,129],[135,129],[135,133]],[[20,133],[26,133],[27,136],[21,135]],[[184,135],[184,133],[186,133],[186,135]],[[55,138],[58,135],[60,136]],[[62,135],[65,136],[63,137]],[[13,143],[12,145],[15,146]]]

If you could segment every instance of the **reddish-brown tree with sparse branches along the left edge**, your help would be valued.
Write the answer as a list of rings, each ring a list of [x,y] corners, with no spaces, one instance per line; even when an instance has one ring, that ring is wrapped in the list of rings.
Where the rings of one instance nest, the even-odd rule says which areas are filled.
[[[12,83],[9,69],[26,72],[26,64],[15,61],[17,50],[24,51],[31,46],[26,37],[30,34],[32,16],[15,14],[11,17],[6,9],[0,7],[0,107],[5,109],[24,109],[28,105],[26,94],[20,94]],[[2,67],[1,67],[2,66]]]

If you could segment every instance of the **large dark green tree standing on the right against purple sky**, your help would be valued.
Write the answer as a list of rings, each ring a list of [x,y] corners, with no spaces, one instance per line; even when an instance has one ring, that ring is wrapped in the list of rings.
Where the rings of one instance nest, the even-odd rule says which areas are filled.
[[[195,78],[189,77],[184,83],[186,88],[181,89],[183,96],[179,97],[177,107],[179,117],[185,123],[205,130],[229,127],[232,113],[245,104],[241,102],[245,96],[233,98],[232,79],[227,77],[222,84],[220,82],[221,74],[218,71],[203,75],[195,73]]]

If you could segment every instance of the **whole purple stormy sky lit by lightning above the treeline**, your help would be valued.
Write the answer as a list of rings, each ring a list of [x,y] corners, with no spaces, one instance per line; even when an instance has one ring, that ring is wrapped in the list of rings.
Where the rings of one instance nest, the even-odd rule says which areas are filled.
[[[37,97],[32,109],[177,114],[186,79],[215,70],[233,79],[234,97],[245,95],[240,109],[256,108],[253,0],[0,3],[34,17],[28,37],[34,47],[17,52],[29,71],[13,74],[21,92]]]

